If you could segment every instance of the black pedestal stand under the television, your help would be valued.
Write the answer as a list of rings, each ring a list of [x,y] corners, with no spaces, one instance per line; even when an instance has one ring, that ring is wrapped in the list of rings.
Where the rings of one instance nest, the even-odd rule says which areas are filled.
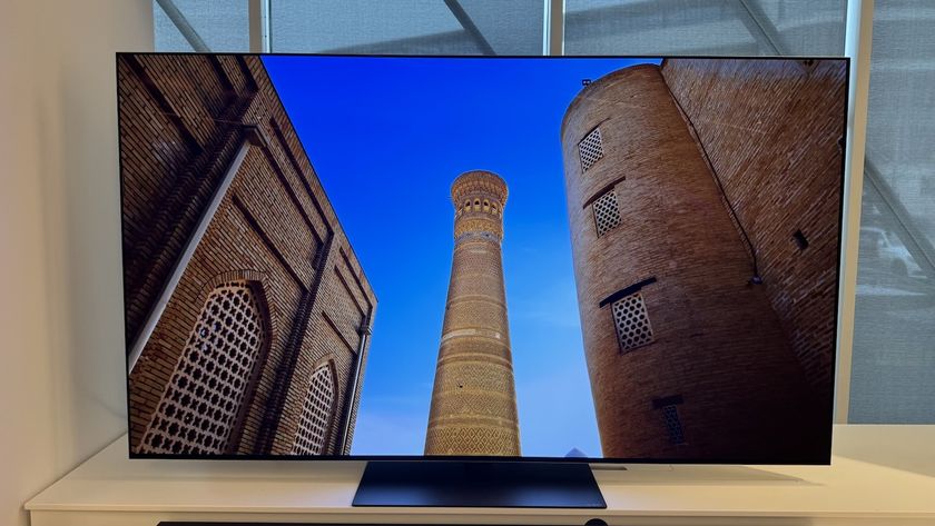
[[[353,506],[607,508],[587,463],[378,460]]]

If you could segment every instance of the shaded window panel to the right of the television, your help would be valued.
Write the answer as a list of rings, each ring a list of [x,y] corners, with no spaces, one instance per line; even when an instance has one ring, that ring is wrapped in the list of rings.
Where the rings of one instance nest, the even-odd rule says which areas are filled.
[[[935,424],[935,6],[874,10],[848,419]]]

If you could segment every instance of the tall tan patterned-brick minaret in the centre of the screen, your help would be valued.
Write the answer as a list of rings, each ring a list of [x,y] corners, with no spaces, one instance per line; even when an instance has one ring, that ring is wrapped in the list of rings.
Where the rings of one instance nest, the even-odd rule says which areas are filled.
[[[454,258],[426,455],[520,455],[500,248],[506,193],[489,171],[452,183]]]

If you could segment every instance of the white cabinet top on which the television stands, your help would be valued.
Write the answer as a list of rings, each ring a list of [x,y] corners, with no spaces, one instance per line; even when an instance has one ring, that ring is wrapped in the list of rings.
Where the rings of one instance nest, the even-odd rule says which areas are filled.
[[[935,525],[935,426],[836,426],[831,466],[600,466],[604,510],[354,508],[363,463],[130,460],[126,451],[125,436],[29,500],[32,526]]]

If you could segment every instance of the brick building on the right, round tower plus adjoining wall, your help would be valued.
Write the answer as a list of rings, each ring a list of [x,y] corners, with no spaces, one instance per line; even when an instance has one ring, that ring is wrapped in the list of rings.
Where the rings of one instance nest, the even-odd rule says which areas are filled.
[[[846,78],[842,60],[672,59],[570,105],[606,456],[826,460]]]

